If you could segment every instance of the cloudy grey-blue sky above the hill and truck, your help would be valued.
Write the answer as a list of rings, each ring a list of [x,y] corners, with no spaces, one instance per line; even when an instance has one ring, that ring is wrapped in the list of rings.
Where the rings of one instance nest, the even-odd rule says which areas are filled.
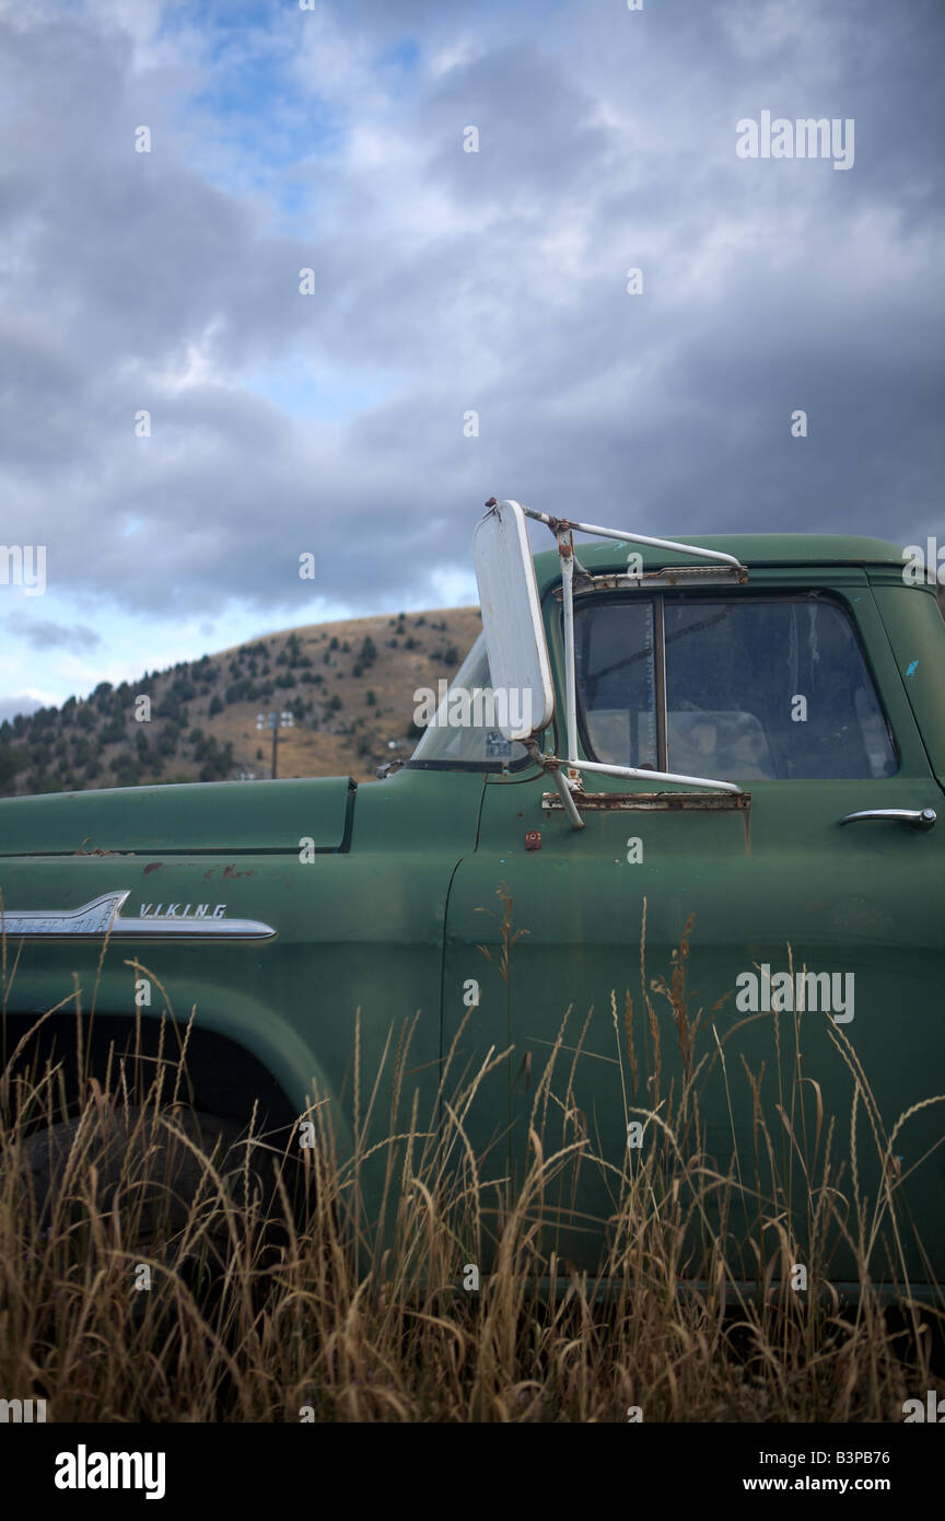
[[[945,543],[943,43],[942,0],[0,0],[0,716],[474,602],[491,496]]]

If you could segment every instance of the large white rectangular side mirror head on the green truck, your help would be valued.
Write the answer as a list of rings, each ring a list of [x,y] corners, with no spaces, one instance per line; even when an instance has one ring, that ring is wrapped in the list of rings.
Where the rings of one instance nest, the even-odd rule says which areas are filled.
[[[497,704],[498,727],[504,739],[532,739],[552,722],[555,687],[526,514],[518,502],[498,502],[479,520],[472,561],[492,691],[504,692],[504,703]]]

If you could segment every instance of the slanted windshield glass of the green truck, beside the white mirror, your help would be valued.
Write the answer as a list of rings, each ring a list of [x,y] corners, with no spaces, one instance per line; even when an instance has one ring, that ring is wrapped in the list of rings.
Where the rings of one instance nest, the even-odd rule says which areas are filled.
[[[503,739],[500,730],[494,727],[495,715],[489,712],[492,704],[488,700],[491,691],[486,636],[480,633],[456,672],[447,697],[424,730],[409,765],[492,768],[527,759],[524,745]],[[422,697],[415,694],[415,701],[422,703]]]

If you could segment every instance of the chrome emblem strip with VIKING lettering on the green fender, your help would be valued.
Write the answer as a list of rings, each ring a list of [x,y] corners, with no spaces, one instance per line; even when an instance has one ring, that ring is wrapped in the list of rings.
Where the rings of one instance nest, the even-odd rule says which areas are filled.
[[[226,919],[225,903],[217,903],[210,913],[208,903],[199,903],[190,914],[190,903],[169,903],[169,911],[143,913],[138,919],[123,919],[122,905],[131,896],[131,888],[122,893],[103,893],[81,908],[62,911],[30,910],[24,914],[0,913],[0,929],[8,935],[68,935],[76,940],[97,940],[109,934],[112,940],[164,940],[169,935],[187,940],[269,940],[275,929],[258,919]],[[141,903],[141,908],[150,908]],[[158,908],[164,908],[158,903]],[[184,911],[181,913],[181,908]],[[220,910],[223,913],[220,913]]]

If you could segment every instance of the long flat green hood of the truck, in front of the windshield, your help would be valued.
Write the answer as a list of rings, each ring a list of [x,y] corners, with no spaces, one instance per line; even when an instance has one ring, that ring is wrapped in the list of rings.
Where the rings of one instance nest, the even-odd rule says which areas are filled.
[[[194,782],[0,799],[0,856],[346,850],[351,777]],[[311,849],[310,847],[310,849]]]

